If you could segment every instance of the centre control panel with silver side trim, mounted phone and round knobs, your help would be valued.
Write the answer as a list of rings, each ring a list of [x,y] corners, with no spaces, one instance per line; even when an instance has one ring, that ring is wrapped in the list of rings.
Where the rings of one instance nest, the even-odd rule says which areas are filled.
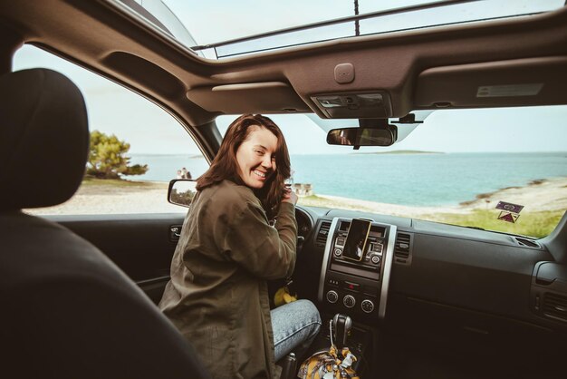
[[[319,301],[334,312],[383,318],[395,238],[395,225],[333,219],[322,260]]]

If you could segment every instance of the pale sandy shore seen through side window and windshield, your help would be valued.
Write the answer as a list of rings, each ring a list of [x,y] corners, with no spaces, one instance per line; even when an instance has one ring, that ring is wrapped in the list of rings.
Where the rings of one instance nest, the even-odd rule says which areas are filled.
[[[316,191],[316,189],[315,189]],[[123,185],[85,183],[62,205],[30,209],[34,214],[120,214],[186,213],[187,209],[168,203],[168,183],[126,182]],[[438,213],[463,214],[475,209],[494,209],[498,201],[524,206],[523,212],[567,209],[567,178],[534,180],[524,187],[479,194],[476,199],[453,207],[410,207],[396,204],[347,199],[324,194],[300,198],[299,204],[314,207],[360,209],[403,217],[422,217]]]

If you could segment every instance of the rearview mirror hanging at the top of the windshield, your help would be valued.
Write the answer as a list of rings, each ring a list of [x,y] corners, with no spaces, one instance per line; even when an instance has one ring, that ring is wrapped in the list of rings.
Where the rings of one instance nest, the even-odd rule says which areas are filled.
[[[387,128],[341,128],[327,133],[327,143],[345,146],[390,146],[398,136],[398,128],[388,125]]]

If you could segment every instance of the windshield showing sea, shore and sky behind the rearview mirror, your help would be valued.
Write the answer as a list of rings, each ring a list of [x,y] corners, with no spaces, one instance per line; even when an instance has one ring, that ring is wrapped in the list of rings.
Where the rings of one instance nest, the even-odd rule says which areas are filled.
[[[300,205],[535,238],[567,209],[567,106],[436,111],[403,141],[358,151],[327,145],[305,115],[271,118],[285,135]],[[234,119],[219,117],[219,129]]]

